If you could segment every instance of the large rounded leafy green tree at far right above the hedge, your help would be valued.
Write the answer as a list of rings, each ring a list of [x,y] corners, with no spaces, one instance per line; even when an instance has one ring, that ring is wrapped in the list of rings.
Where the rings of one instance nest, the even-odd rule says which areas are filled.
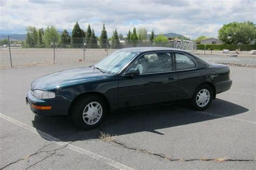
[[[218,30],[218,38],[225,44],[250,44],[256,38],[256,26],[250,22],[232,22]]]

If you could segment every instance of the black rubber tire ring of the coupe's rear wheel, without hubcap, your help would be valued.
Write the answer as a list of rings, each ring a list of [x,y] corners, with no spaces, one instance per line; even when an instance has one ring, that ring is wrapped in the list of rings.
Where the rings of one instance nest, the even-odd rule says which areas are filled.
[[[207,105],[204,107],[200,107],[197,105],[197,93],[202,90],[202,89],[206,89],[210,92],[210,100],[208,101]],[[212,103],[212,99],[213,99],[213,91],[212,88],[208,85],[201,85],[197,88],[197,90],[194,92],[192,100],[191,100],[191,104],[192,107],[194,108],[194,110],[198,110],[198,111],[203,111],[205,110],[207,107],[209,107]]]

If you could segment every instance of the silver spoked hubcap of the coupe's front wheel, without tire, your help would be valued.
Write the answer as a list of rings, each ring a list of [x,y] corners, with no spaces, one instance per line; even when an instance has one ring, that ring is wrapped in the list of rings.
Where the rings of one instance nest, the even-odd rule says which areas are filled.
[[[98,123],[102,117],[102,105],[97,101],[92,101],[87,104],[83,112],[83,120],[87,125],[94,125]]]

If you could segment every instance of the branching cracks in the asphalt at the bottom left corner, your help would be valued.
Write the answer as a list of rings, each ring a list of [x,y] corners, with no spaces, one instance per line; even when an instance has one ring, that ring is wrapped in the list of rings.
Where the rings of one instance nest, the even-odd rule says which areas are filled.
[[[38,164],[39,162],[42,162],[43,160],[45,160],[45,159],[51,157],[52,155],[56,154],[57,151],[59,151],[60,149],[65,148],[66,146],[70,145],[72,142],[75,142],[75,141],[69,142],[68,144],[66,144],[66,145],[64,145],[63,147],[60,147],[60,148],[52,149],[52,150],[50,150],[50,151],[42,151],[43,148],[45,148],[45,147],[47,147],[47,146],[50,146],[50,145],[53,145],[53,144],[56,144],[56,142],[58,142],[58,141],[54,141],[54,142],[52,142],[52,143],[50,143],[50,144],[48,144],[48,145],[44,145],[42,148],[39,148],[35,153],[26,156],[26,158],[18,159],[18,160],[14,161],[14,162],[11,162],[10,164],[5,165],[4,167],[0,168],[0,170],[4,169],[4,168],[6,168],[6,167],[8,167],[8,166],[10,166],[10,165],[12,165],[12,164],[16,164],[16,163],[19,162],[19,161],[27,160],[27,159],[29,159],[29,158],[35,156],[35,155],[38,154],[38,153],[50,153],[50,152],[53,152],[53,153],[51,153],[50,155],[47,155],[46,157],[44,157],[43,159],[37,161],[35,164],[32,164],[32,165],[30,165],[29,167],[26,168],[26,169],[28,169],[28,168],[30,168],[30,167],[32,167],[32,166]]]

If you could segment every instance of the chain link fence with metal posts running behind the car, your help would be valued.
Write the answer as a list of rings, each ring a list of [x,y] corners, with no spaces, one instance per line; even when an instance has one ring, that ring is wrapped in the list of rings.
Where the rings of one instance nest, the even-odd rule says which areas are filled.
[[[33,66],[53,63],[98,62],[113,51],[127,47],[172,47],[193,52],[197,44],[191,41],[68,39],[66,43],[7,44],[0,48],[1,68],[10,66]]]

